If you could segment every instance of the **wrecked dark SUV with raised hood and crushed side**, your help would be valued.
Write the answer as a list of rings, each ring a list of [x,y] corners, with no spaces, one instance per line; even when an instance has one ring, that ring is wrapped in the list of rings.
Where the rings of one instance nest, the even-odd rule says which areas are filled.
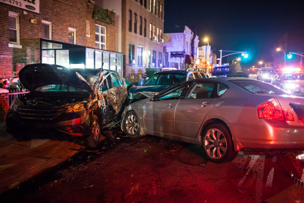
[[[47,134],[96,147],[102,128],[127,104],[126,84],[115,71],[31,64],[19,77],[30,93],[14,100],[6,115],[7,131],[19,140]]]

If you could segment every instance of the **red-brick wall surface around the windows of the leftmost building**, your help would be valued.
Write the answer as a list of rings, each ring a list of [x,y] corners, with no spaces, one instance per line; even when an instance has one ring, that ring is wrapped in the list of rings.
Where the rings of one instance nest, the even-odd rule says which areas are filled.
[[[52,23],[52,40],[68,43],[71,27],[76,29],[77,45],[95,48],[93,6],[87,0],[40,0],[40,14],[28,10],[24,14],[22,9],[0,2],[0,78],[13,78],[13,72],[18,77],[25,65],[40,62],[41,20]],[[19,13],[22,48],[9,47],[9,11]],[[115,13],[109,11],[109,15],[115,23]],[[30,23],[31,19],[36,19],[37,24]],[[90,22],[90,37],[86,36],[86,20]],[[115,24],[101,25],[106,27],[107,50],[115,51]]]

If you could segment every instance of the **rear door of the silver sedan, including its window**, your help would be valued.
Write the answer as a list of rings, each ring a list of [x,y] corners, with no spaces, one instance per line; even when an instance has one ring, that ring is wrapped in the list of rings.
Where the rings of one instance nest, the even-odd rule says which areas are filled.
[[[179,101],[174,116],[176,135],[196,136],[214,102],[217,91],[215,84],[211,81],[195,81],[185,97]]]

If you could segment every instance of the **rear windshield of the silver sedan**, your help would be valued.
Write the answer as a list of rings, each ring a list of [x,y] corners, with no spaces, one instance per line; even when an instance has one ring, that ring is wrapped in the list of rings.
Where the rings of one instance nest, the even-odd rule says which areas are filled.
[[[258,80],[229,80],[254,94],[287,94],[283,90]]]

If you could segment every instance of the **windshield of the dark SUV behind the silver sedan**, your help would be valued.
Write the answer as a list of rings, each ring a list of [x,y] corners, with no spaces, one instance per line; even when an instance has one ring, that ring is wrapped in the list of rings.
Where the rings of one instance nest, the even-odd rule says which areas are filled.
[[[186,76],[183,74],[175,73],[161,73],[152,75],[143,86],[155,86],[155,85],[172,85],[186,81]]]

